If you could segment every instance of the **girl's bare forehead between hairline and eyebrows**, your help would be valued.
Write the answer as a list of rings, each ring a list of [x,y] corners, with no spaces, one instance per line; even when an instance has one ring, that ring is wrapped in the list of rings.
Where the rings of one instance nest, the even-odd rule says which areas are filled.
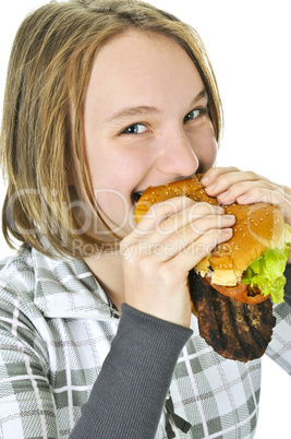
[[[87,90],[89,100],[183,99],[203,88],[198,71],[186,51],[173,39],[131,31],[104,45],[97,52]]]

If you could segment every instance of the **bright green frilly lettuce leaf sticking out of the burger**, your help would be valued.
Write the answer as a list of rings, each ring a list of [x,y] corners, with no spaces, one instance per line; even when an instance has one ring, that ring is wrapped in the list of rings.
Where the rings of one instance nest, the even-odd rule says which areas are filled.
[[[283,272],[289,248],[267,250],[246,269],[244,285],[257,286],[264,296],[271,295],[274,304],[283,301],[286,277]]]

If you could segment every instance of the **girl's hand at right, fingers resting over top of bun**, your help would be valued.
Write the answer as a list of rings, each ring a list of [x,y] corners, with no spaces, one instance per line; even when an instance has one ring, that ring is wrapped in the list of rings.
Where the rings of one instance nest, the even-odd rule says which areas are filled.
[[[234,167],[209,169],[202,183],[208,195],[217,197],[219,203],[227,205],[253,204],[257,202],[278,205],[284,221],[291,225],[291,189],[276,185],[255,173],[241,171]]]

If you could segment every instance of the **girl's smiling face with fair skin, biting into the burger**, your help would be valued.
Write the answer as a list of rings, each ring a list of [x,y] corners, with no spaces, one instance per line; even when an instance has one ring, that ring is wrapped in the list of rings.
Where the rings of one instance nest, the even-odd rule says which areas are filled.
[[[165,36],[132,31],[98,51],[84,127],[96,206],[120,237],[143,190],[204,173],[216,158],[204,84]]]

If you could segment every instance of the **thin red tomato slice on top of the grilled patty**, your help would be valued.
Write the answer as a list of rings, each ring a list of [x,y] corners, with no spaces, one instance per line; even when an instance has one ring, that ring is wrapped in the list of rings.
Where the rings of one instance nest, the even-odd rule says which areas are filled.
[[[225,286],[213,284],[211,280],[207,276],[205,278],[217,292],[225,296],[233,297],[242,304],[259,304],[270,297],[270,294],[268,296],[263,296],[258,288],[253,288],[252,292],[250,292],[248,285],[243,285],[241,282],[239,282],[237,286]]]

